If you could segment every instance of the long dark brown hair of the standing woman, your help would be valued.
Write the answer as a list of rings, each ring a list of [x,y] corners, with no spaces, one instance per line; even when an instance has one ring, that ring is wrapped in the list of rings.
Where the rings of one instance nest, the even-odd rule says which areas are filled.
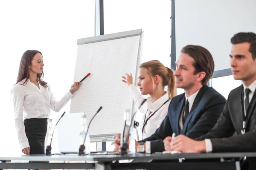
[[[27,83],[27,81],[29,79],[29,65],[31,65],[32,59],[38,53],[40,53],[42,55],[42,53],[37,50],[27,50],[24,52],[24,54],[22,55],[22,57],[20,59],[20,68],[19,68],[19,73],[18,73],[18,77],[17,77],[17,82],[15,84],[17,84],[18,82],[20,82],[23,79],[26,79],[26,80],[23,82],[22,85],[25,85]],[[37,74],[37,77],[39,79],[39,84],[41,86],[43,86],[44,88],[49,87],[47,82],[43,81],[44,71],[41,74]]]

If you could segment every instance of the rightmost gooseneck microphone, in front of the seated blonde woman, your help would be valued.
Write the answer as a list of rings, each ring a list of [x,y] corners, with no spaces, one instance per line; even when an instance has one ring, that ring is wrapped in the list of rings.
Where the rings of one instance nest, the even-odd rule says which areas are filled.
[[[141,102],[140,106],[139,106],[139,109],[141,108],[141,106],[145,103],[145,101],[147,101],[147,99],[144,99],[143,102]],[[127,139],[129,137],[129,133],[130,133],[130,130],[131,130],[131,126],[132,126],[132,120],[134,119],[134,116],[135,114],[137,113],[137,110],[135,111],[134,115],[132,116],[132,119],[131,119],[131,124],[130,126],[128,127],[127,129],[127,126],[126,126],[126,122],[125,122],[125,126],[124,126],[124,129],[123,129],[123,134],[122,134],[122,146],[121,146],[121,155],[123,154],[126,154],[127,153],[127,149],[128,149],[128,144],[127,144]],[[128,130],[128,131],[127,131]],[[126,136],[125,136],[126,135]],[[125,140],[126,139],[126,140]]]

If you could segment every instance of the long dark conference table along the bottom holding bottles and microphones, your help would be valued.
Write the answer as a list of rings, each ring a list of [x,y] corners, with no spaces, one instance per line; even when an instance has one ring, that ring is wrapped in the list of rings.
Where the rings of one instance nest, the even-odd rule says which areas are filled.
[[[0,155],[0,169],[240,170],[244,156],[254,159],[256,153]]]

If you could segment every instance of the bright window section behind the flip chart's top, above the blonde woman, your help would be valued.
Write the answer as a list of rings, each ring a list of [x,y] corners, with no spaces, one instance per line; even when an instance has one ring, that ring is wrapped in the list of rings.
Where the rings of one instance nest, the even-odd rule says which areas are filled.
[[[157,59],[170,68],[171,1],[104,0],[104,34],[143,28],[142,62]]]

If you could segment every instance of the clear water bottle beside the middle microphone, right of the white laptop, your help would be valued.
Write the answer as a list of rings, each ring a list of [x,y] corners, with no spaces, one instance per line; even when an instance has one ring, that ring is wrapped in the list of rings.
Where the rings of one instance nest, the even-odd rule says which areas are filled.
[[[84,146],[85,146],[84,153],[88,154],[88,153],[90,153],[90,136],[87,133],[85,143],[84,143],[84,138],[85,138],[86,133],[87,133],[87,120],[86,120],[86,116],[82,115],[81,116],[81,131],[80,131],[80,135],[79,135],[79,146],[81,144],[84,144]]]

